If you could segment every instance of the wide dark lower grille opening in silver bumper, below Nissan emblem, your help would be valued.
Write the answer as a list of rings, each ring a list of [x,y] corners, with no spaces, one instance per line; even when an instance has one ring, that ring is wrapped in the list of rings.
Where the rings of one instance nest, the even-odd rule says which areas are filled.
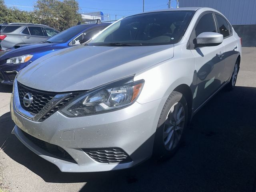
[[[61,160],[65,160],[65,161],[68,161],[68,162],[76,163],[76,161],[70,156],[70,154],[68,154],[68,152],[66,152],[60,146],[42,141],[38,138],[35,138],[35,137],[31,136],[30,134],[27,134],[23,130],[21,130],[21,131],[28,140],[30,140],[32,143],[34,143],[39,148],[41,148],[41,149],[45,150],[46,152],[50,153],[52,155],[52,157],[58,158],[58,159],[61,159]]]

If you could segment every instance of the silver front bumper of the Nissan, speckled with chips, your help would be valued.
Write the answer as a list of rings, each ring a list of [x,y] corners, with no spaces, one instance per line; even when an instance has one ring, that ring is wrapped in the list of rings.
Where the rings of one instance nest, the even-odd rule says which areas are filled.
[[[62,172],[100,172],[132,167],[152,155],[154,133],[166,98],[92,116],[68,118],[55,112],[42,122],[20,115],[11,99],[11,116],[15,122],[12,133],[30,150],[52,162]],[[36,146],[24,134],[63,148],[75,162],[50,155]],[[74,135],[73,135],[74,134]],[[102,163],[91,158],[85,150],[120,148],[130,162]]]

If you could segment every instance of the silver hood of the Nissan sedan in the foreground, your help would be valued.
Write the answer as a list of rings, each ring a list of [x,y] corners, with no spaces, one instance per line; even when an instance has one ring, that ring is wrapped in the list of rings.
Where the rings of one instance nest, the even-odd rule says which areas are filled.
[[[18,73],[21,84],[38,90],[90,90],[173,57],[174,45],[74,46],[43,56]]]

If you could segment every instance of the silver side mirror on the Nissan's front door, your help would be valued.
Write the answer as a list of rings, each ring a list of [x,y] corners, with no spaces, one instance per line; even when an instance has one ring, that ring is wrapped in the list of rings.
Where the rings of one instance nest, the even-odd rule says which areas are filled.
[[[223,35],[215,32],[203,32],[196,37],[196,47],[216,46],[223,42]]]

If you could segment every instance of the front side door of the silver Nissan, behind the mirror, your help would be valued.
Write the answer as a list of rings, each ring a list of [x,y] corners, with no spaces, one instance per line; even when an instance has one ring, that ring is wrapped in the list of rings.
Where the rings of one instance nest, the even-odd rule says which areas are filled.
[[[198,108],[221,86],[222,68],[224,62],[221,55],[223,44],[217,46],[196,45],[196,37],[202,32],[217,32],[216,22],[212,12],[202,14],[190,36],[190,49],[196,62],[196,92],[194,94],[195,107]]]

